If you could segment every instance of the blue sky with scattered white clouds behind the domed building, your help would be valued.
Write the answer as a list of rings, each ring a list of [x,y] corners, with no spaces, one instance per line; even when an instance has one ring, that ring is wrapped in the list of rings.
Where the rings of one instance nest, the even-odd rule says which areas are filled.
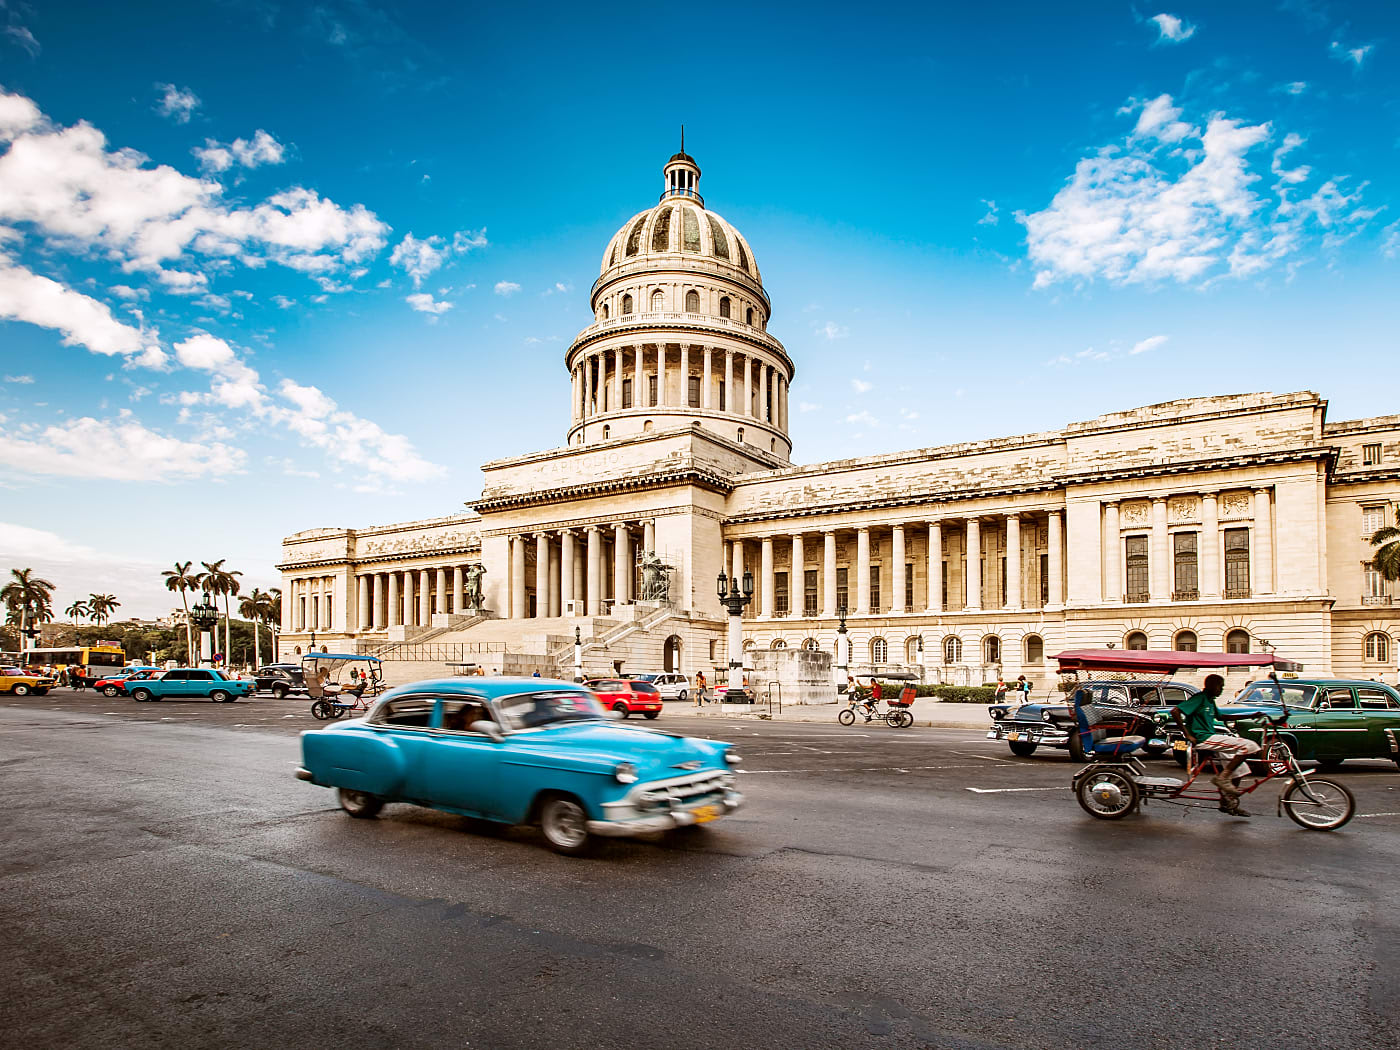
[[[795,458],[1316,389],[1396,410],[1382,3],[0,0],[0,566],[274,582],[563,440],[603,246],[686,125]]]

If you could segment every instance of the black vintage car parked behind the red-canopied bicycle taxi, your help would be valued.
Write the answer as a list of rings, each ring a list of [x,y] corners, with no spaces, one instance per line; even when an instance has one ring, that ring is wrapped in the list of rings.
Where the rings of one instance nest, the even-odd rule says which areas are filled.
[[[1095,706],[1112,708],[1121,713],[1124,721],[1134,722],[1127,732],[1147,736],[1142,750],[1148,755],[1165,755],[1170,750],[1166,729],[1170,710],[1197,692],[1187,682],[1152,679],[1082,682],[1078,687],[1092,693],[1091,703]],[[1036,748],[1065,748],[1075,762],[1085,762],[1068,703],[1021,704],[1004,718],[995,720],[987,738],[1005,741],[1011,753],[1021,757],[1033,755]]]

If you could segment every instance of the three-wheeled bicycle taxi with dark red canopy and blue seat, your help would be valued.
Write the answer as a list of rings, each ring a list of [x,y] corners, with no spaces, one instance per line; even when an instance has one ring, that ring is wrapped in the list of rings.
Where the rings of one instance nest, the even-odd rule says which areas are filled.
[[[1091,690],[1079,689],[1086,682],[1121,680],[1126,678],[1169,678],[1180,671],[1228,671],[1229,668],[1268,668],[1274,682],[1277,703],[1268,704],[1263,720],[1239,720],[1239,735],[1247,735],[1261,745],[1257,756],[1240,766],[1233,780],[1240,795],[1249,795],[1273,780],[1282,780],[1278,795],[1278,815],[1313,832],[1330,832],[1347,823],[1357,811],[1357,801],[1343,784],[1313,776],[1298,764],[1288,745],[1280,742],[1278,727],[1288,721],[1278,672],[1301,671],[1301,665],[1280,659],[1274,654],[1254,652],[1156,652],[1151,650],[1072,650],[1056,657],[1060,675],[1068,679],[1065,693],[1074,710],[1084,752],[1089,764],[1074,774],[1074,795],[1086,813],[1100,820],[1117,820],[1138,811],[1148,801],[1166,802],[1191,809],[1219,808],[1222,797],[1207,780],[1197,784],[1203,773],[1214,771],[1215,762],[1207,755],[1190,750],[1186,780],[1149,776],[1138,760],[1145,743],[1142,736],[1123,735],[1123,721],[1113,721],[1112,711],[1100,713],[1089,703]],[[1277,708],[1277,714],[1274,713]],[[1256,725],[1257,721],[1257,725]],[[1232,731],[1233,725],[1231,725]]]

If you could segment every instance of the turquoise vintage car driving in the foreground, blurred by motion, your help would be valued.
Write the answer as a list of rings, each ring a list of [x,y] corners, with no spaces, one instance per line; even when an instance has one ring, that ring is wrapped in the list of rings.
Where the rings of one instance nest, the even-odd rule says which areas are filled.
[[[410,802],[503,825],[539,823],[582,854],[598,837],[690,827],[743,797],[731,745],[620,725],[594,696],[539,678],[416,682],[364,718],[301,734],[297,777],[375,816]]]

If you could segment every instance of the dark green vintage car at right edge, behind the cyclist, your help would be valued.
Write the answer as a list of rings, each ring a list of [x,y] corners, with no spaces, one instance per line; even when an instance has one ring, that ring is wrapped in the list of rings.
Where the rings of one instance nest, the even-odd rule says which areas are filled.
[[[1278,685],[1288,704],[1288,725],[1280,728],[1278,738],[1299,759],[1316,759],[1323,769],[1336,769],[1347,759],[1390,759],[1400,764],[1400,693],[1390,686],[1343,678],[1287,679]],[[1219,713],[1232,721],[1260,710],[1278,713],[1273,682],[1252,682]],[[1240,720],[1239,732],[1259,741],[1261,727]]]

